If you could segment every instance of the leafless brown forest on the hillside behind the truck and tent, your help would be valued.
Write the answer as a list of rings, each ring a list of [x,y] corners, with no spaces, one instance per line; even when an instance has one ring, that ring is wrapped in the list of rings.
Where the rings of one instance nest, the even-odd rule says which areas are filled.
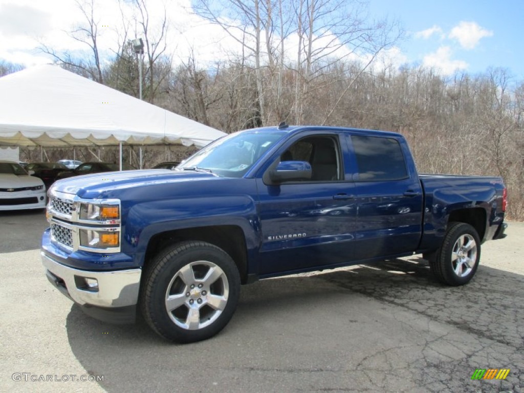
[[[153,24],[146,0],[125,4],[134,9],[133,20],[123,18],[121,45],[111,59],[102,61],[93,1],[79,2],[85,23],[70,32],[85,43],[84,57],[45,43],[40,49],[66,69],[138,96],[138,58],[130,39],[143,37],[143,96],[151,103],[226,133],[281,121],[398,132],[408,139],[419,172],[502,176],[508,216],[524,220],[524,81],[497,68],[496,59],[483,73],[454,75],[378,61],[407,37],[397,21],[367,19],[362,2],[198,0],[195,13],[221,26],[239,50],[212,64],[192,54],[174,66],[166,31],[176,27],[166,15]],[[219,9],[227,9],[228,18],[219,18]],[[18,69],[0,62],[0,75]],[[145,167],[194,150],[145,146]],[[25,149],[21,158],[42,156],[72,158],[72,149]],[[113,161],[117,151],[77,148],[75,156]],[[137,166],[138,147],[126,146],[124,159]]]

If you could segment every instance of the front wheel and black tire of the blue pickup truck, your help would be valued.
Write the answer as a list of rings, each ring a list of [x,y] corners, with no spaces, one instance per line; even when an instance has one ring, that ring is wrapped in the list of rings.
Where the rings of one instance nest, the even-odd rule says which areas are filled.
[[[163,338],[191,343],[209,339],[231,320],[240,275],[224,250],[206,242],[168,247],[148,266],[141,311]]]

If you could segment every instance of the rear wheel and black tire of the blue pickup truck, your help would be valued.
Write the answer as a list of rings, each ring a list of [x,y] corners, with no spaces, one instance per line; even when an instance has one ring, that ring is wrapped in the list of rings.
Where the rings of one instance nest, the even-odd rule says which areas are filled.
[[[459,286],[469,282],[481,259],[481,241],[473,226],[461,222],[448,224],[442,245],[429,258],[433,275],[442,283]]]

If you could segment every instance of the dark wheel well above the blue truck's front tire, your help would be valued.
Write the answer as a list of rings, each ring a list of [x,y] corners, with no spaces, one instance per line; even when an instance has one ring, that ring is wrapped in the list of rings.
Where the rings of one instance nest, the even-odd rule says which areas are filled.
[[[158,233],[151,237],[147,245],[144,267],[146,268],[148,262],[162,249],[187,240],[208,242],[223,249],[235,262],[240,272],[241,282],[246,283],[246,239],[242,229],[235,225],[202,226]]]

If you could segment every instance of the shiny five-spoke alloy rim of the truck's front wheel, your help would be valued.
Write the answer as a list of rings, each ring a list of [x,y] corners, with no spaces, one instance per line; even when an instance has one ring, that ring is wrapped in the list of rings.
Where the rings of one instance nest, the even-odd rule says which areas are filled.
[[[199,330],[212,324],[224,311],[229,283],[224,271],[199,260],[183,266],[166,291],[166,311],[180,328]]]

